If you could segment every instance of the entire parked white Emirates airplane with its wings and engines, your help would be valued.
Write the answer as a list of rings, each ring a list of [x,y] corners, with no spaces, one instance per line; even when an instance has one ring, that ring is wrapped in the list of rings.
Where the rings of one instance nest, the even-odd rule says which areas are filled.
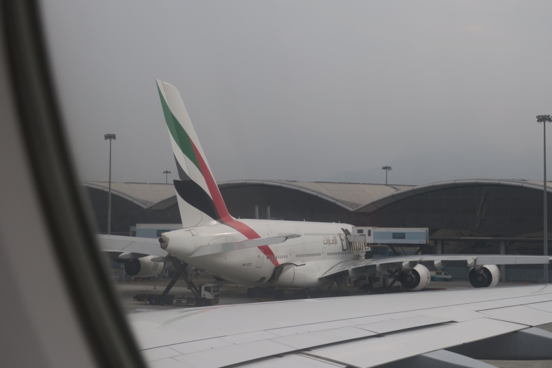
[[[179,180],[175,180],[177,201],[184,229],[163,233],[161,248],[179,260],[205,269],[231,282],[253,287],[315,288],[341,280],[343,273],[360,275],[367,267],[386,271],[398,269],[398,280],[407,289],[427,287],[431,275],[423,262],[442,267],[446,262],[463,262],[471,267],[474,287],[494,287],[500,279],[495,264],[548,263],[548,257],[509,255],[412,255],[364,259],[364,245],[350,242],[352,225],[271,220],[238,220],[226,209],[213,173],[195,133],[186,107],[174,86],[157,80],[157,89],[175,155]],[[161,249],[151,251],[152,240],[140,245],[137,238],[104,237],[133,242],[118,246],[119,258],[140,260],[151,270]],[[137,262],[137,261],[135,261]]]

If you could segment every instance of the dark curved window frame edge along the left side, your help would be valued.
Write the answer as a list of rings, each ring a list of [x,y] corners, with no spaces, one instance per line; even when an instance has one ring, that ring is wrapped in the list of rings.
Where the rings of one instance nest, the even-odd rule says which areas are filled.
[[[77,182],[34,0],[1,3],[10,84],[50,244],[99,367],[144,367],[104,270]]]

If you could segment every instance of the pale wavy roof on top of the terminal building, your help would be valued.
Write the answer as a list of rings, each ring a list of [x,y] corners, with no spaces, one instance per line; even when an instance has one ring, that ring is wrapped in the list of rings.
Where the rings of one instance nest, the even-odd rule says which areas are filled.
[[[448,188],[466,186],[515,186],[533,190],[543,190],[542,181],[533,180],[453,180],[437,182],[420,186],[385,185],[335,182],[293,182],[288,180],[235,180],[219,182],[224,188],[239,188],[244,186],[276,186],[314,195],[322,200],[332,202],[349,211],[372,213],[400,200],[406,200],[416,195],[441,191]],[[108,191],[108,182],[84,182],[83,186]],[[552,184],[551,184],[552,186]],[[552,188],[549,186],[549,192]],[[163,210],[177,203],[173,184],[157,183],[111,183],[111,193],[137,204],[144,209]]]

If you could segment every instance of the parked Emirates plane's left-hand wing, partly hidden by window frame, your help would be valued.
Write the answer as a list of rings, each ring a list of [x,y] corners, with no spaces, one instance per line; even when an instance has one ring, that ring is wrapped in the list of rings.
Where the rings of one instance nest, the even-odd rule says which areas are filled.
[[[146,255],[166,257],[167,252],[159,246],[159,240],[136,238],[134,236],[97,235],[100,250],[110,253],[115,258],[141,258]]]

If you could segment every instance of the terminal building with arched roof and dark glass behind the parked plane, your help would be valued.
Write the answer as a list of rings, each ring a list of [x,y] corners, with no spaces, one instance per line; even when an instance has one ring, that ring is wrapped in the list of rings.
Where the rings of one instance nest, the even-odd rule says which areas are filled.
[[[455,180],[411,186],[244,180],[218,185],[234,217],[427,227],[430,245],[423,253],[543,253],[543,182]],[[108,183],[83,186],[99,232],[106,233]],[[112,234],[135,235],[137,224],[179,223],[172,184],[112,183]],[[503,277],[540,280],[542,266],[509,266]]]

